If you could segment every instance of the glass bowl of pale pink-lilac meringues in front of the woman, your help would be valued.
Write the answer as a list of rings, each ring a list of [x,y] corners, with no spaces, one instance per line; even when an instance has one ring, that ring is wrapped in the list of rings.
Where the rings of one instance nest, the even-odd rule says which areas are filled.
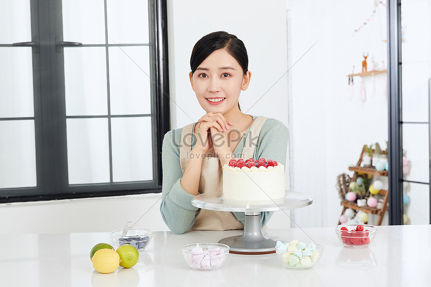
[[[181,247],[187,264],[195,270],[220,268],[229,254],[229,246],[221,243],[193,243]]]

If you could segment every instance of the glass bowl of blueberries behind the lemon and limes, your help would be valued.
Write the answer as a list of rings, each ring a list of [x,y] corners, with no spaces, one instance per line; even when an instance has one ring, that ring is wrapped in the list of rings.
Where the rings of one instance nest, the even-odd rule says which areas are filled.
[[[111,232],[112,246],[115,249],[124,244],[134,246],[138,251],[144,250],[153,238],[153,230],[143,228],[129,228],[123,235],[123,229]]]

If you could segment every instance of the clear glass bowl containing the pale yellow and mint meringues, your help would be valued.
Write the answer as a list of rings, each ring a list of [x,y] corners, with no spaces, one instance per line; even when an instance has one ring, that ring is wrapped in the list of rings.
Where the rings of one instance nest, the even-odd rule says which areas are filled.
[[[310,250],[309,246],[311,242],[300,243],[304,243],[307,248],[296,249],[295,251],[286,250],[286,247],[283,248],[283,246],[275,248],[277,256],[283,266],[293,270],[303,270],[309,269],[317,264],[320,259],[320,256],[322,256],[323,254],[323,246],[313,243],[315,248]]]

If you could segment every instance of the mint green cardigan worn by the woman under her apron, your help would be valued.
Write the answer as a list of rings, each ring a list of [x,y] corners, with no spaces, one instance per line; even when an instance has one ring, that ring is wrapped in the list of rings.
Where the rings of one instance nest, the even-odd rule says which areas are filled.
[[[253,116],[254,120],[256,118],[256,116]],[[246,131],[246,134],[233,152],[236,157],[239,157],[243,151],[249,130],[250,128]],[[176,234],[182,234],[191,228],[199,209],[191,205],[191,199],[194,196],[185,191],[180,184],[182,178],[182,170],[179,163],[181,131],[182,129],[176,129],[167,132],[164,136],[162,146],[163,185],[160,213],[169,229]],[[266,159],[273,159],[286,166],[288,138],[289,131],[282,122],[276,119],[267,119],[259,134],[253,158],[259,159],[264,157]],[[196,138],[193,135],[191,148],[195,144]],[[244,224],[244,212],[232,213]],[[261,227],[265,226],[271,218],[272,213],[273,211],[261,212]]]

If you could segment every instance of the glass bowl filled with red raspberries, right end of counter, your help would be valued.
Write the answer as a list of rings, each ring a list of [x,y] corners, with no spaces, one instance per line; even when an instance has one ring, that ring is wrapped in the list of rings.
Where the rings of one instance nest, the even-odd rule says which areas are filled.
[[[335,233],[345,246],[361,248],[373,242],[377,228],[368,224],[341,224],[335,227]]]

